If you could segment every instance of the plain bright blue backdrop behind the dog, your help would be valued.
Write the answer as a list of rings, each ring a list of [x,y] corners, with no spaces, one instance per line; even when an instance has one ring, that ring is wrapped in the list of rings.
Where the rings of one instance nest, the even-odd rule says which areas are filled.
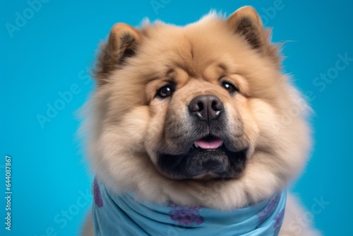
[[[303,93],[311,93],[315,145],[293,190],[325,235],[353,235],[353,61],[341,61],[345,69],[335,69],[339,54],[353,57],[353,2],[156,1],[160,8],[150,0],[52,0],[42,6],[2,1],[0,235],[78,234],[92,200],[85,196],[92,177],[75,138],[75,112],[92,91],[89,73],[97,45],[114,23],[137,26],[148,17],[184,25],[211,8],[229,15],[244,5],[256,7],[265,25],[273,27],[274,42],[289,41],[283,47],[283,70]],[[6,27],[16,25],[19,15],[28,19],[17,20],[20,27],[9,33]],[[318,84],[321,73],[329,73],[332,81]],[[47,116],[54,105],[60,110],[49,112],[52,119],[41,126],[38,114]],[[11,232],[3,223],[5,155],[11,155],[13,169]],[[320,200],[325,203],[318,205]]]

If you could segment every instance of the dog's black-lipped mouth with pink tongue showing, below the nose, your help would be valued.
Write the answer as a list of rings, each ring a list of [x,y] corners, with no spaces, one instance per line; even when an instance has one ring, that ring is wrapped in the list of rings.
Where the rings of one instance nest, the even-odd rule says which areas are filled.
[[[184,154],[159,153],[158,170],[171,179],[239,177],[245,169],[248,148],[231,151],[226,143],[227,139],[209,134],[193,141]]]

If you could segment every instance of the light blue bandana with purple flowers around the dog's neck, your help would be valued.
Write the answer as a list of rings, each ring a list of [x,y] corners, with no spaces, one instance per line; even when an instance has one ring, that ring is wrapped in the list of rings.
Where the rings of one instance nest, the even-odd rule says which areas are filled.
[[[117,196],[95,179],[93,225],[96,236],[110,235],[278,235],[287,192],[246,208],[220,211],[201,206],[136,201]]]

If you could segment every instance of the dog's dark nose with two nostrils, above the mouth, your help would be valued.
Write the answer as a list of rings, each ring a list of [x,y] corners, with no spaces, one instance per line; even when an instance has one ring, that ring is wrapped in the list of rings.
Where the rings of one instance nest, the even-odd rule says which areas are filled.
[[[189,110],[201,121],[210,123],[220,117],[223,102],[215,95],[199,95],[189,104]]]

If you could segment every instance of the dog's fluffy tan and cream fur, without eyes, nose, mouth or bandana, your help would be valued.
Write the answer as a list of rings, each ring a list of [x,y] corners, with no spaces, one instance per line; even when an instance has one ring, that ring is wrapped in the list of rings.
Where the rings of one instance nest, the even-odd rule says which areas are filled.
[[[279,45],[269,36],[249,6],[228,18],[210,13],[183,28],[114,25],[101,47],[97,88],[81,127],[97,177],[116,194],[218,209],[247,206],[286,188],[310,150],[309,107],[281,73]],[[156,95],[171,81],[172,96]],[[229,94],[224,81],[239,91]],[[198,95],[220,98],[220,135],[227,136],[225,145],[246,150],[237,175],[185,177],[160,165],[159,153],[180,155],[211,129],[191,121],[188,106]],[[288,196],[280,235],[316,235],[311,223],[297,225],[303,214]]]

